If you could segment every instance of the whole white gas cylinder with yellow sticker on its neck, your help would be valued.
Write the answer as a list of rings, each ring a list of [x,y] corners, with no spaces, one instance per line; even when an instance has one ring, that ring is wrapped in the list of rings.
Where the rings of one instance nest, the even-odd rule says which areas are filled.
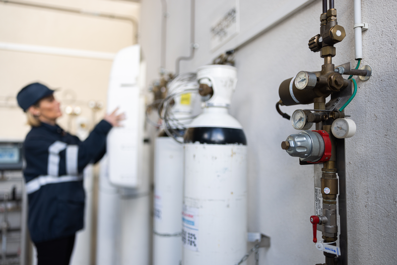
[[[175,120],[168,126],[183,135],[183,127],[190,122],[196,95],[191,90],[198,89],[196,75],[191,80],[172,82],[168,89],[168,95],[180,92],[173,98],[171,116]],[[183,93],[186,89],[190,91]],[[175,137],[183,140],[181,136]],[[182,261],[182,201],[182,144],[162,130],[154,149],[153,265],[178,265]]]

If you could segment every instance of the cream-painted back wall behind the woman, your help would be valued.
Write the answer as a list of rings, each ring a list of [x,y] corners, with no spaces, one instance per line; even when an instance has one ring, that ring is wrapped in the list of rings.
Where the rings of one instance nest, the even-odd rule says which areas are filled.
[[[31,0],[29,2],[66,8],[95,10],[139,19],[139,3],[122,0]],[[50,55],[2,48],[18,44],[30,48],[86,50],[115,54],[132,44],[132,23],[125,20],[68,13],[11,3],[0,3],[0,116],[6,124],[2,137],[24,138],[30,127],[17,107],[16,94],[25,85],[40,81],[59,88],[55,97],[64,112],[67,105],[79,106],[80,115],[92,120],[88,101],[101,101],[105,108],[96,115],[102,119],[106,109],[106,92],[112,61],[72,56]],[[15,47],[14,47],[15,48]],[[26,48],[26,47],[25,47]],[[74,99],[73,99],[74,98]],[[73,100],[72,100],[73,99]],[[4,107],[4,102],[7,106]],[[76,132],[75,119],[69,123],[64,113],[61,127]],[[70,124],[70,126],[69,126]],[[91,125],[90,125],[91,126]]]

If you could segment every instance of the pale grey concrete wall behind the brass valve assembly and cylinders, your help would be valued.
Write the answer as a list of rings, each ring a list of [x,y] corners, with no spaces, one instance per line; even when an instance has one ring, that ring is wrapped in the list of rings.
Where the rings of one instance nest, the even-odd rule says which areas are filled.
[[[190,1],[167,0],[167,63],[174,72],[175,59],[189,55]],[[181,71],[194,71],[238,43],[238,36],[215,51],[209,47],[209,28],[222,4],[230,0],[196,1],[194,60]],[[243,36],[261,21],[282,16],[296,4],[291,0],[241,0],[240,33]],[[301,1],[304,3],[305,1]],[[346,38],[336,45],[335,65],[354,61],[353,1],[335,1],[338,23]],[[147,83],[158,78],[160,67],[161,1],[143,0],[141,44],[147,62]],[[397,5],[388,0],[365,0],[362,21],[363,64],[373,76],[358,80],[358,93],[346,108],[357,124],[357,133],[346,140],[349,264],[397,263]],[[300,70],[320,70],[323,60],[312,53],[308,40],[319,33],[321,1],[314,1],[236,53],[238,84],[230,113],[243,125],[249,143],[249,231],[271,237],[271,247],[260,251],[260,264],[307,265],[324,263],[312,242],[309,216],[314,214],[313,167],[299,166],[280,148],[281,141],[297,131],[275,111],[278,86]],[[358,79],[358,78],[357,78]],[[298,108],[282,107],[289,114]],[[320,234],[319,234],[320,235]],[[252,259],[252,258],[251,258]],[[252,264],[252,260],[250,263]]]

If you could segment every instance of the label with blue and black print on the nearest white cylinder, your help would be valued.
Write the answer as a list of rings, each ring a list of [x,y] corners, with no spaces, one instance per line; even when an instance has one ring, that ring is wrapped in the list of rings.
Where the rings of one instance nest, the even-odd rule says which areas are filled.
[[[193,251],[199,251],[199,209],[184,205],[182,221],[183,246]]]

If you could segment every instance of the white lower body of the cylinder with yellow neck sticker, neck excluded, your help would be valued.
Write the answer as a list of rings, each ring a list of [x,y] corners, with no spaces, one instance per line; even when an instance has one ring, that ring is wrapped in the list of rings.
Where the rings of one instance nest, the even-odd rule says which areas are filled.
[[[156,138],[153,265],[178,265],[182,260],[182,150],[164,131]]]

